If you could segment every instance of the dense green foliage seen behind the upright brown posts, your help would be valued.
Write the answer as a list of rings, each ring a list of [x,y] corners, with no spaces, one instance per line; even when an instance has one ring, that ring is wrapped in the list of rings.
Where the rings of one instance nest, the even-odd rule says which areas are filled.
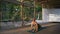
[[[26,2],[27,4],[34,6],[32,1]],[[16,12],[17,15],[14,17],[13,20],[19,21],[21,20],[21,14],[20,14],[20,5],[13,4],[13,3],[8,3],[8,2],[1,2],[1,9],[2,9],[2,20],[9,20],[14,16]],[[40,14],[40,19],[42,19],[42,8],[40,5],[36,4],[35,6],[35,11],[36,11],[36,18],[38,17],[38,13]],[[31,18],[34,17],[34,8],[32,7],[26,7],[23,6],[23,17],[25,21],[31,20]]]

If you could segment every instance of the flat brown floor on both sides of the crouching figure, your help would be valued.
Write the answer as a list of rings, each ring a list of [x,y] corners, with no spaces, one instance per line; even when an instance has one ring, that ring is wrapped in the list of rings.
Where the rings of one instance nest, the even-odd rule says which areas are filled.
[[[51,23],[51,24],[43,24],[42,26],[48,26],[46,29],[43,29],[35,34],[57,34],[60,33],[60,24],[59,23]],[[12,30],[6,30],[1,31],[0,34],[32,34],[30,32],[27,32],[27,30],[30,30],[30,27],[24,27],[24,28],[18,28],[18,29],[12,29]]]

